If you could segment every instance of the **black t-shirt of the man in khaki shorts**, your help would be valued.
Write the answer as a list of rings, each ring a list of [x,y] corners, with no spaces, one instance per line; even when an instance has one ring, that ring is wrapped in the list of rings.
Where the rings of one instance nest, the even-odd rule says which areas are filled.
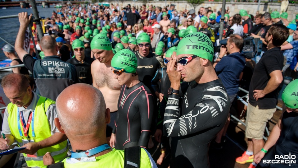
[[[265,95],[256,101],[254,99],[254,90],[264,90],[270,79],[270,73],[275,70],[282,70],[283,55],[280,47],[275,47],[266,51],[256,64],[254,73],[251,77],[249,86],[249,103],[253,106],[258,105],[259,109],[273,109],[277,104],[278,89]]]

